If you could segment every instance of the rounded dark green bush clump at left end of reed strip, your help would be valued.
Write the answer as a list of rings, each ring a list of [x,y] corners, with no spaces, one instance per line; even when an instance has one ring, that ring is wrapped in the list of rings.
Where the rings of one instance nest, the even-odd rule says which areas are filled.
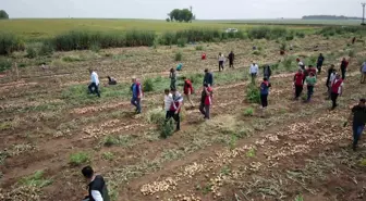
[[[9,55],[14,51],[23,51],[24,42],[14,34],[0,33],[0,55]]]

